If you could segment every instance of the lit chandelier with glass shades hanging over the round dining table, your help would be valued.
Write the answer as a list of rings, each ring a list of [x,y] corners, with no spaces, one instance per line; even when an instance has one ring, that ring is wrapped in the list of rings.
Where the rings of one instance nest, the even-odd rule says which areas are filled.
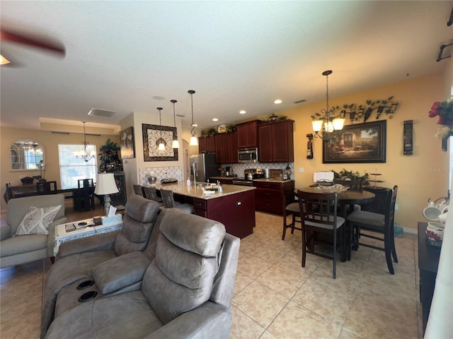
[[[335,117],[334,112],[335,107],[329,109],[328,107],[328,76],[333,72],[331,70],[323,71],[323,76],[326,76],[326,109],[321,109],[323,117],[318,120],[311,121],[313,124],[313,131],[315,137],[321,138],[323,140],[328,140],[333,138],[333,131],[339,131],[343,129],[345,124],[345,119],[341,117]]]

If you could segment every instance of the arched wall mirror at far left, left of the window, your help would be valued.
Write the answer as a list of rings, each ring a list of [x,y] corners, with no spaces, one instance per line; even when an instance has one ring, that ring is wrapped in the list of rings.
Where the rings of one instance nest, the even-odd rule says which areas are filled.
[[[12,170],[39,170],[44,164],[44,148],[37,141],[16,141],[9,148]]]

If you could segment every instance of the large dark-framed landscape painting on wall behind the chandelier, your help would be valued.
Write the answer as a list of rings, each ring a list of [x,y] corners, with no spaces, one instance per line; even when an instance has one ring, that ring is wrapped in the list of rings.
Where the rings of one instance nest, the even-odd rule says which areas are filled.
[[[323,163],[385,162],[386,120],[344,126],[323,142]]]

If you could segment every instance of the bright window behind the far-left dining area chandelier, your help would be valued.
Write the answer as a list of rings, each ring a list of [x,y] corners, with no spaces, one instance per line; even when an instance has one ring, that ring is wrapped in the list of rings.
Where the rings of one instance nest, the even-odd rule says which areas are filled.
[[[86,146],[91,154],[96,155],[96,145]],[[81,145],[58,145],[59,180],[62,189],[76,189],[79,179],[94,179],[98,174],[98,159],[85,162],[76,157],[81,150]]]

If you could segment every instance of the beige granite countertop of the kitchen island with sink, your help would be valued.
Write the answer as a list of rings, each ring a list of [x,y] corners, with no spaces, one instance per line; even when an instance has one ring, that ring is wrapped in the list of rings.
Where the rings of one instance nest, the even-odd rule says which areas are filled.
[[[256,187],[252,186],[239,186],[239,185],[226,185],[222,184],[222,192],[215,191],[214,194],[212,195],[207,195],[203,194],[203,191],[201,189],[201,186],[204,185],[205,183],[202,182],[197,182],[197,186],[187,186],[186,183],[174,183],[174,184],[156,184],[154,185],[156,189],[169,189],[173,191],[175,194],[181,194],[183,196],[191,196],[193,198],[200,198],[200,199],[214,199],[214,198],[221,198],[222,196],[229,196],[231,194],[238,194],[241,192],[246,192],[246,191],[252,191],[253,189],[256,189]],[[200,186],[201,185],[201,186]],[[151,185],[143,185],[144,187],[151,186]]]

